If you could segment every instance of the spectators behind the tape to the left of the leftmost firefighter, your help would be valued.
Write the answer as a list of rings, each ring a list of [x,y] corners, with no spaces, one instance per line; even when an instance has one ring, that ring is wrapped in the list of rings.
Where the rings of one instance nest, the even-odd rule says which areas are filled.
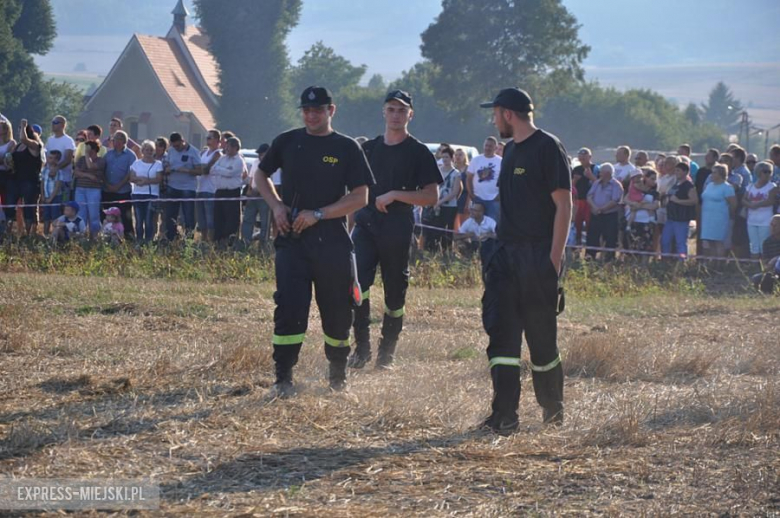
[[[22,120],[16,140],[0,116],[0,233],[34,235],[40,220],[43,236],[56,242],[140,245],[197,232],[203,241],[226,243],[255,236],[257,212],[241,234],[242,195],[257,193],[234,134],[211,130],[199,150],[179,133],[137,143],[118,118],[105,138],[95,124],[73,139],[67,125],[65,117],[52,119],[44,143],[43,129]],[[263,224],[269,226],[267,214]]]

